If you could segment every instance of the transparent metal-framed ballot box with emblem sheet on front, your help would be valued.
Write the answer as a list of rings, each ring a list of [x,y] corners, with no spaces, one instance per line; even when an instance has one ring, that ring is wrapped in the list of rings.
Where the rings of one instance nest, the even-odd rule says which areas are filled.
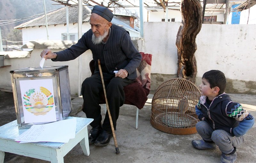
[[[72,110],[68,66],[10,71],[19,129],[66,119]]]

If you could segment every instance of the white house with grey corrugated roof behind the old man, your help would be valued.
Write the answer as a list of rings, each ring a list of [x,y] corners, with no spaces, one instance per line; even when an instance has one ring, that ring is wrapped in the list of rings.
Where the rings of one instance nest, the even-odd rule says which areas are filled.
[[[70,40],[78,40],[78,9],[76,7],[68,8],[69,14],[69,24],[68,31]],[[89,23],[91,15],[91,9],[88,7],[83,8],[83,24],[82,33],[87,32],[91,29]],[[126,29],[132,39],[139,39],[139,31],[132,28],[130,25],[125,24],[118,18],[121,16],[114,16],[112,23],[115,25],[122,26]],[[127,16],[124,16],[127,17]],[[134,19],[134,17],[129,17],[129,19]],[[47,13],[47,24],[48,24],[48,39],[49,40],[67,40],[67,23],[66,23],[66,7],[60,8],[56,11]],[[26,23],[16,26],[15,28],[22,29],[22,41],[23,45],[29,41],[33,40],[47,40],[47,31],[45,16],[35,18]]]

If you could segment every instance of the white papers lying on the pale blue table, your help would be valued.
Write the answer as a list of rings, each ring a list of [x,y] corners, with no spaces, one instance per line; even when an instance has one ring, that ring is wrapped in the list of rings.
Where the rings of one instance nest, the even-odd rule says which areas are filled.
[[[18,136],[15,141],[28,142],[60,142],[68,143],[75,138],[76,118],[57,121],[49,124],[36,124]]]

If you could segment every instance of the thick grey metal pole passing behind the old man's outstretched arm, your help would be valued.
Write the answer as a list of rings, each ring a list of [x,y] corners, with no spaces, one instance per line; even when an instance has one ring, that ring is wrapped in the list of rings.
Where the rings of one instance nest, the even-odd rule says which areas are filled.
[[[83,4],[82,0],[78,0],[78,39],[82,37],[82,18],[83,18]],[[82,55],[78,57],[78,96],[81,96],[82,83]]]

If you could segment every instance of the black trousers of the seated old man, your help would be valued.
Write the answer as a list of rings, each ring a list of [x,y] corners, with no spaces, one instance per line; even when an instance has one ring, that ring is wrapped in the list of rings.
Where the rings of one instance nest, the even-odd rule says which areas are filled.
[[[110,114],[113,121],[114,129],[116,129],[116,120],[119,116],[119,108],[124,104],[124,86],[132,83],[132,80],[127,78],[115,77],[115,74],[105,74],[103,73],[103,79],[105,83],[105,88],[107,92],[107,99]],[[81,93],[84,99],[84,113],[87,118],[93,118],[93,122],[90,124],[92,127],[100,124],[102,117],[100,114],[100,97],[103,92],[103,86],[101,82],[100,73],[94,73],[91,77],[84,80],[82,84]],[[108,111],[106,113],[105,119],[103,121],[102,127],[111,131],[111,126],[108,117]]]

